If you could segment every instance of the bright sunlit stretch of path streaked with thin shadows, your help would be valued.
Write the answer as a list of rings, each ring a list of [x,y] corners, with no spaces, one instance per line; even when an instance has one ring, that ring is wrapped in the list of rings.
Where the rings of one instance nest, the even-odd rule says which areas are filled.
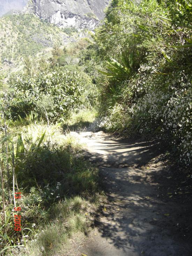
[[[87,143],[87,150],[93,153],[93,160],[102,158],[102,163],[118,167],[145,164],[157,154],[160,149],[157,143],[149,141],[127,141],[103,132],[82,132],[82,141]]]

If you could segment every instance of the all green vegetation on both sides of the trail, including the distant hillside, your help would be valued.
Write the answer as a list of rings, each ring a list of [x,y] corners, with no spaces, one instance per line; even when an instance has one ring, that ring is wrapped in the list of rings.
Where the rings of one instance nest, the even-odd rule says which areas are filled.
[[[27,14],[1,18],[2,61],[20,69],[6,79],[0,70],[0,254],[65,255],[74,234],[82,239],[89,230],[98,173],[65,129],[95,122],[166,141],[174,161],[191,167],[191,17],[185,0],[112,0],[92,39],[65,46],[62,36],[77,38],[75,28]],[[15,191],[22,192],[16,202]]]

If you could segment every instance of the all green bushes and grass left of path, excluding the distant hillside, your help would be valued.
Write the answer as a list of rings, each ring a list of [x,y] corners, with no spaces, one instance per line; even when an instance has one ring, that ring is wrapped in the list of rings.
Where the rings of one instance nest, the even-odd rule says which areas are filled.
[[[84,160],[77,134],[61,128],[82,127],[95,116],[93,83],[78,60],[87,45],[54,45],[49,59],[25,58],[23,73],[7,83],[2,75],[2,255],[65,255],[70,239],[82,240],[90,229],[101,200],[98,171]],[[22,193],[16,202],[14,191]],[[22,209],[21,231],[14,230],[14,207]]]

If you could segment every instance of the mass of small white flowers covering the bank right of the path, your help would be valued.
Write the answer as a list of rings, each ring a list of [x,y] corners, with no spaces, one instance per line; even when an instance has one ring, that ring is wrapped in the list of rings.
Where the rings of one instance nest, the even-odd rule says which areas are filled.
[[[161,73],[157,65],[140,66],[127,85],[131,100],[116,103],[97,127],[107,131],[153,133],[166,139],[186,166],[192,163],[192,74],[189,70]]]

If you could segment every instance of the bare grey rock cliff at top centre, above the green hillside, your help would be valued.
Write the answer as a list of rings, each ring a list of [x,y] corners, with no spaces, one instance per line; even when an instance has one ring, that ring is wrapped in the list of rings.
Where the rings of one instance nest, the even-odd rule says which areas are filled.
[[[104,18],[110,0],[32,0],[36,16],[59,27],[93,30]]]

